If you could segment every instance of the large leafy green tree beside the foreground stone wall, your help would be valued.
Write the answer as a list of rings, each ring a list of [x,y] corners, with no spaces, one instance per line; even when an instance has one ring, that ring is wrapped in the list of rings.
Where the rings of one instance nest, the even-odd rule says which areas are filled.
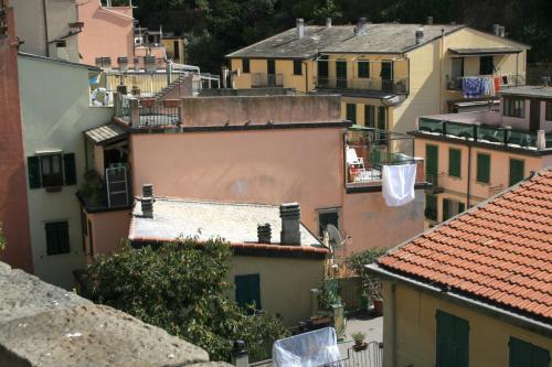
[[[252,359],[265,358],[287,332],[278,317],[250,315],[221,295],[230,259],[221,239],[185,238],[139,249],[126,245],[89,266],[94,285],[87,296],[204,348],[214,360],[227,359],[235,339],[247,343]]]

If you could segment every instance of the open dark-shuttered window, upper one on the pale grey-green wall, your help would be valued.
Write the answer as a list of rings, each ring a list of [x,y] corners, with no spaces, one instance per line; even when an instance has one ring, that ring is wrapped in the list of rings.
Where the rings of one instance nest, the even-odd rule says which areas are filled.
[[[76,184],[74,153],[28,156],[26,168],[31,188]]]

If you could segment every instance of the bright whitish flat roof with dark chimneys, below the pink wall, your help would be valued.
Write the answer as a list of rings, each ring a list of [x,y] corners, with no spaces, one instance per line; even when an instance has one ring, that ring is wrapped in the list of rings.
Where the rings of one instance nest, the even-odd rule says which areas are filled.
[[[270,244],[258,244],[257,226],[269,224]],[[199,241],[223,238],[232,247],[251,249],[328,253],[329,250],[300,224],[301,245],[280,244],[279,206],[236,204],[156,197],[153,218],[142,216],[139,199],[135,202],[128,238],[135,242],[169,242],[180,237]]]

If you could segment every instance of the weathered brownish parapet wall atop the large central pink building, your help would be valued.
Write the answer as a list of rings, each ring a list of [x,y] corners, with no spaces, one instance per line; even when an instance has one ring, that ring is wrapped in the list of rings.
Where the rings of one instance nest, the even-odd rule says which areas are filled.
[[[184,127],[339,121],[338,96],[189,97],[182,99]]]

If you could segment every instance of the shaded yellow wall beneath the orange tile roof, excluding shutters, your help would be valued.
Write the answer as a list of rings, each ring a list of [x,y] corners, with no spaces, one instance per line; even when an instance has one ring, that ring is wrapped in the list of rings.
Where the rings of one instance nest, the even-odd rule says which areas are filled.
[[[469,322],[469,366],[508,366],[508,341],[510,336],[530,342],[552,350],[552,339],[506,321],[481,313],[475,309],[460,306],[442,298],[414,290],[405,284],[396,284],[396,345],[393,348],[393,304],[391,282],[384,281],[385,299],[383,313],[383,365],[391,366],[435,366],[436,354],[436,310],[440,310]],[[396,363],[392,364],[393,349]]]

